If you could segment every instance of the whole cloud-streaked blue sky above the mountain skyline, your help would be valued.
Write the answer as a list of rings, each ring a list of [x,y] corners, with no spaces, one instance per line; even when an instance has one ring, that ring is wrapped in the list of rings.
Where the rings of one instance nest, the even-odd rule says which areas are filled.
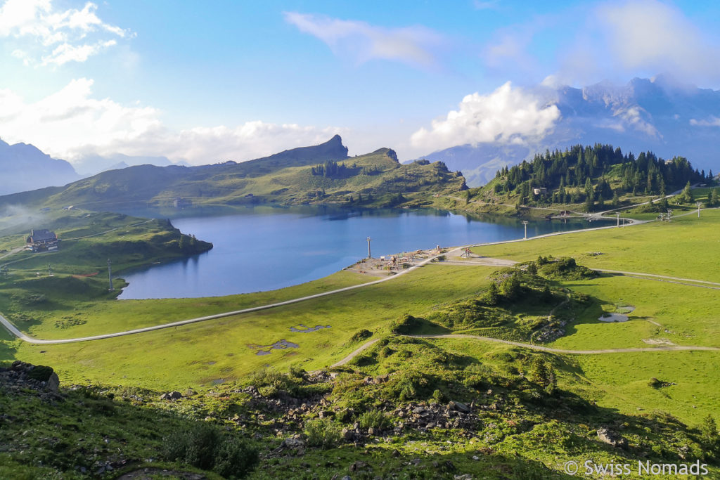
[[[697,1],[0,0],[0,137],[197,164],[340,133],[415,158],[543,135],[543,82],[718,89],[719,20]]]

